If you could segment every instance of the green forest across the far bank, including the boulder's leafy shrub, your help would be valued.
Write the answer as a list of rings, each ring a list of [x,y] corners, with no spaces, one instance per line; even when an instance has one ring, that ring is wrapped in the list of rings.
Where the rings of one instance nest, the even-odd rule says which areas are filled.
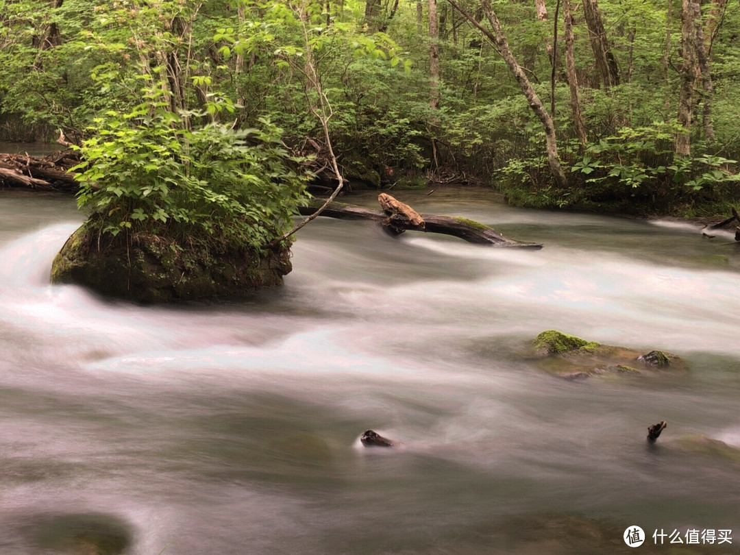
[[[639,215],[738,198],[727,0],[0,5],[0,139],[78,149],[79,203],[114,234],[258,246],[340,179]]]

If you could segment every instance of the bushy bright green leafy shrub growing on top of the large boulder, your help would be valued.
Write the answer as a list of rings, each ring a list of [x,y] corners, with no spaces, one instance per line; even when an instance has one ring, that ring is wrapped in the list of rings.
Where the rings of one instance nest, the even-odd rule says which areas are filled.
[[[261,129],[222,124],[188,129],[161,107],[107,112],[84,142],[78,204],[104,232],[213,238],[259,248],[286,231],[306,201],[300,160],[267,120]]]

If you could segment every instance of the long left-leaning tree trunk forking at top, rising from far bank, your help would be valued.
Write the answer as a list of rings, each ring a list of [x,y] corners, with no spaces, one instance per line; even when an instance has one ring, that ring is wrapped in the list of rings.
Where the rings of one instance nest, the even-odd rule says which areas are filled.
[[[501,27],[501,23],[499,22],[499,19],[497,18],[493,7],[491,7],[491,0],[480,0],[480,4],[483,9],[483,13],[485,13],[488,22],[491,24],[491,27],[494,30],[494,33],[491,33],[491,31],[478,23],[478,21],[476,21],[473,16],[471,16],[469,13],[463,10],[462,7],[460,7],[460,4],[457,4],[457,1],[447,1],[451,4],[452,7],[454,7],[455,10],[465,16],[465,18],[467,18],[468,21],[471,22],[471,24],[474,24],[474,26],[477,27],[477,29],[480,30],[480,32],[483,33],[489,41],[491,41],[491,44],[494,45],[498,53],[502,55],[502,58],[504,58],[509,71],[512,75],[514,75],[514,78],[517,80],[519,87],[521,87],[525,98],[527,98],[529,107],[535,113],[539,121],[542,122],[542,127],[545,129],[548,162],[553,172],[553,177],[555,178],[555,181],[559,186],[566,186],[567,180],[565,178],[565,172],[563,171],[562,166],[560,165],[559,158],[557,156],[557,141],[555,138],[555,127],[552,118],[550,117],[550,114],[548,114],[548,110],[545,108],[545,105],[542,104],[542,101],[539,99],[536,92],[534,92],[534,89],[532,88],[527,75],[525,75],[522,68],[519,66],[519,64],[517,64],[517,60],[516,58],[514,58],[514,54],[511,53],[511,48],[509,47],[508,41],[506,40],[506,35],[504,33],[503,27]]]

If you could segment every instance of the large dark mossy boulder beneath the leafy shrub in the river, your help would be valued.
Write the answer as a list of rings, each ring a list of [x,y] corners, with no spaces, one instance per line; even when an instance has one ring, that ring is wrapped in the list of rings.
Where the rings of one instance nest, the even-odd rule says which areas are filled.
[[[193,240],[100,235],[84,223],[52,265],[52,283],[73,283],[105,297],[168,303],[246,295],[283,283],[287,246],[269,252],[215,249]]]

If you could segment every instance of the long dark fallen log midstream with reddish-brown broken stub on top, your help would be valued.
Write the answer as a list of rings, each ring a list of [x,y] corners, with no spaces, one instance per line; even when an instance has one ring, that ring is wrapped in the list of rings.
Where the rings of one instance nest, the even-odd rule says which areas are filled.
[[[393,199],[390,195],[382,193],[381,197],[387,197]],[[387,203],[387,199],[384,199]],[[390,205],[388,205],[390,206]],[[406,206],[405,204],[403,206]],[[312,215],[316,212],[318,206],[315,204],[309,206],[303,206],[300,209],[301,215]],[[412,210],[412,212],[414,212]],[[417,212],[414,212],[417,214]],[[466,218],[452,218],[451,216],[440,216],[434,214],[421,214],[420,218],[423,220],[423,226],[414,225],[411,220],[406,221],[405,218],[394,218],[394,215],[387,215],[385,212],[377,212],[363,206],[354,206],[351,204],[332,202],[326,209],[321,212],[322,216],[328,218],[338,218],[340,220],[370,220],[380,223],[387,229],[391,227],[391,233],[397,235],[397,232],[403,232],[406,229],[423,231],[427,233],[442,233],[444,235],[453,235],[460,239],[468,241],[468,243],[476,243],[479,245],[489,246],[508,246],[518,247],[521,249],[542,249],[540,243],[522,243],[521,241],[505,238],[503,235],[499,235],[491,227],[485,226],[477,221],[468,220]],[[418,215],[418,214],[417,214]]]

